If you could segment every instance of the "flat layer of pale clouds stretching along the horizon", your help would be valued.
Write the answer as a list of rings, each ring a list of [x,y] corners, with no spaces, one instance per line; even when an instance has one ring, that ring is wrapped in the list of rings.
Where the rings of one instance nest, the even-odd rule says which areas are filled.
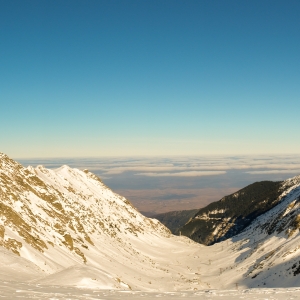
[[[28,161],[34,164],[34,160]],[[101,176],[118,175],[125,172],[137,172],[144,176],[210,176],[211,172],[228,172],[230,170],[244,170],[248,174],[285,174],[298,173],[300,170],[300,155],[261,155],[261,156],[199,156],[199,157],[136,157],[136,158],[86,158],[41,161],[50,168],[57,168],[59,164],[88,169]],[[197,173],[198,172],[198,173]],[[205,173],[206,172],[206,173]],[[299,172],[300,173],[300,172]],[[157,175],[154,175],[157,174]],[[179,174],[179,175],[172,175]],[[180,175],[181,174],[181,175]],[[201,174],[201,175],[200,175]],[[185,175],[193,176],[193,175]]]

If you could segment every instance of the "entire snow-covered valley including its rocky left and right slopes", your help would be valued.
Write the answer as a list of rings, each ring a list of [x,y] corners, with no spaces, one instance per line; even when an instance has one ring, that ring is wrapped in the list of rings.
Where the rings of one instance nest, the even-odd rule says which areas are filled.
[[[204,246],[171,235],[88,171],[24,168],[1,154],[1,288],[10,280],[49,291],[299,286],[300,176],[282,191],[239,235]]]

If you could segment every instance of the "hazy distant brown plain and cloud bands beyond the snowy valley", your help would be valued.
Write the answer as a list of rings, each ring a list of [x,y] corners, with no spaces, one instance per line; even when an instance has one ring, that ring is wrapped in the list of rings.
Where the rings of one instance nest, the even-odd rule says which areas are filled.
[[[24,166],[88,169],[147,216],[201,208],[253,182],[300,174],[300,155],[17,160]]]

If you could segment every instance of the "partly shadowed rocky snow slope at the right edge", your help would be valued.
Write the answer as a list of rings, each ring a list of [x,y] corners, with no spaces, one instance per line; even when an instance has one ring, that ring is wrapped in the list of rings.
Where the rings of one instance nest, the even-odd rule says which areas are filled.
[[[251,287],[297,286],[300,274],[300,176],[285,180],[278,204],[232,241],[244,261],[243,282]],[[224,242],[226,243],[226,242]]]

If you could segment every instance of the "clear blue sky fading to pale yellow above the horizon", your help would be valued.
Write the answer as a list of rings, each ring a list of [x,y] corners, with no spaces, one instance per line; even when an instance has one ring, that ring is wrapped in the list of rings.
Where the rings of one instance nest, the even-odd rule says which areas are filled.
[[[300,152],[300,1],[0,0],[11,157]]]

